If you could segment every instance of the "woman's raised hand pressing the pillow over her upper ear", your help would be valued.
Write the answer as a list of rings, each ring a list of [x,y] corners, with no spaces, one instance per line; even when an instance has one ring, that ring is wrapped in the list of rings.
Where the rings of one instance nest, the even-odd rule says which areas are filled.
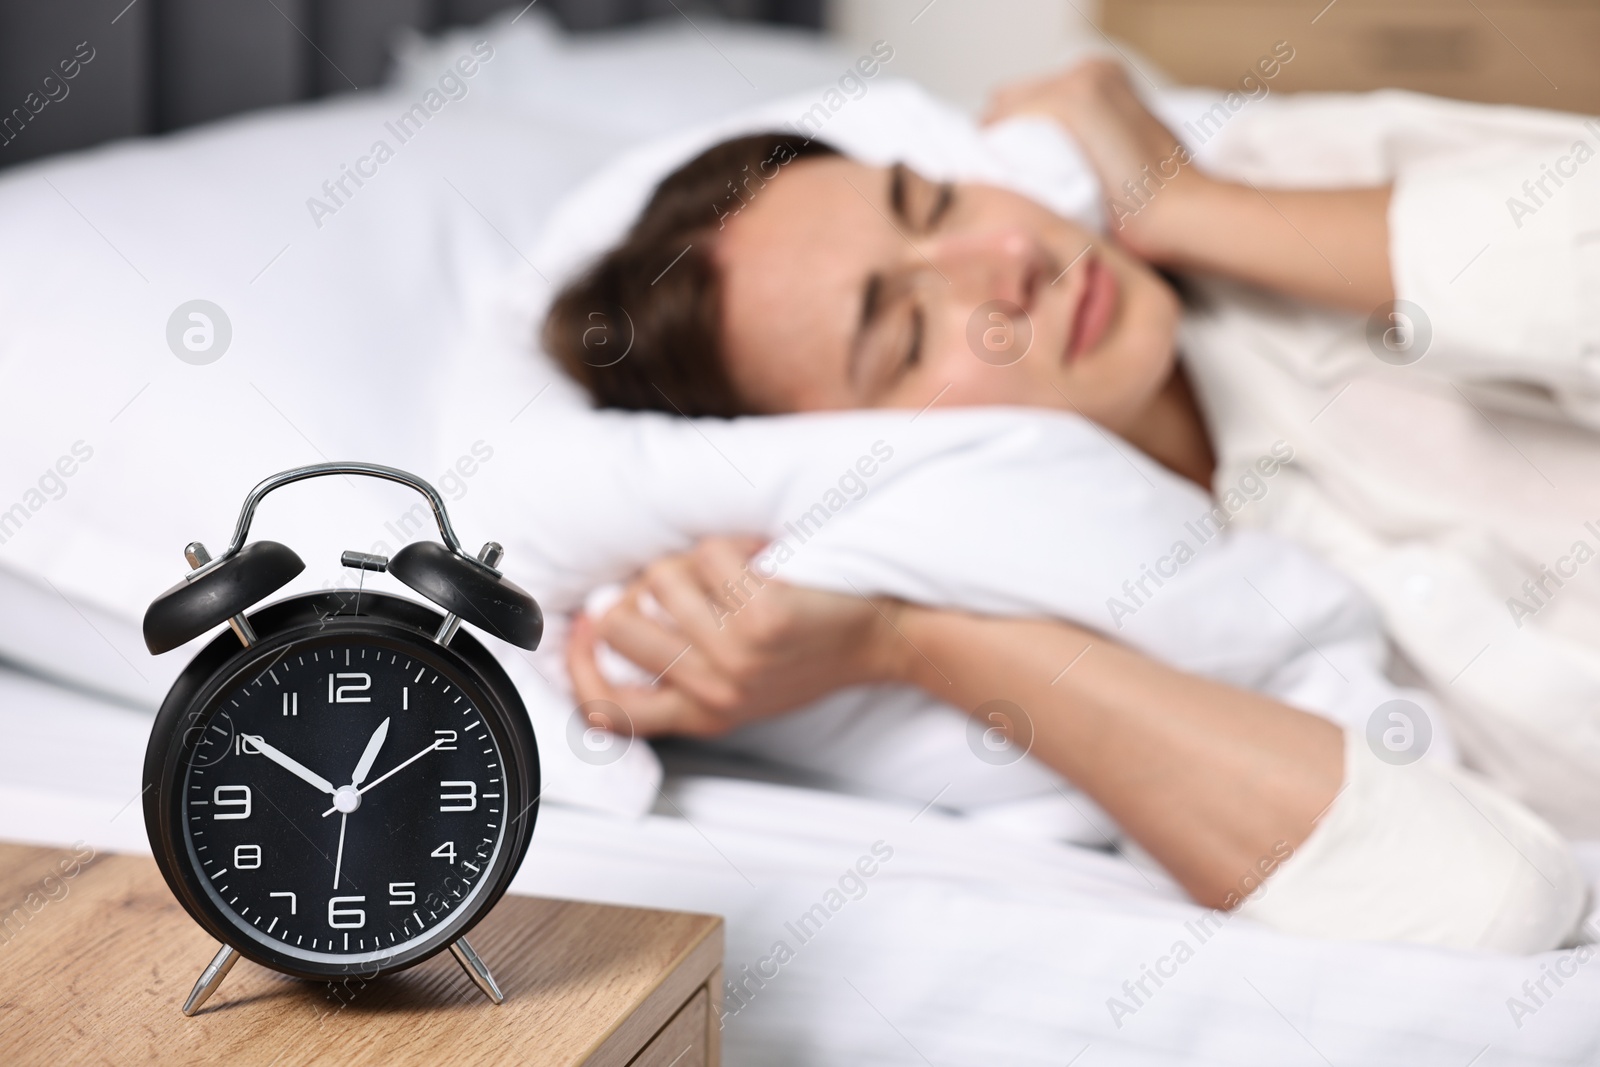
[[[1171,256],[1173,230],[1208,179],[1133,91],[1122,64],[1086,59],[1062,74],[1003,86],[990,98],[984,122],[1030,114],[1054,118],[1083,149],[1104,189],[1112,235],[1150,262]]]

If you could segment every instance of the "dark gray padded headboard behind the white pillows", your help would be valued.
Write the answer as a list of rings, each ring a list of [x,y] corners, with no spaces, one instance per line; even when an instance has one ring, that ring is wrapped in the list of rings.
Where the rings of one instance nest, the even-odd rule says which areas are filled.
[[[568,29],[648,18],[819,26],[822,0],[534,0]],[[0,166],[378,85],[403,26],[526,0],[0,0]],[[533,6],[533,5],[526,5]]]

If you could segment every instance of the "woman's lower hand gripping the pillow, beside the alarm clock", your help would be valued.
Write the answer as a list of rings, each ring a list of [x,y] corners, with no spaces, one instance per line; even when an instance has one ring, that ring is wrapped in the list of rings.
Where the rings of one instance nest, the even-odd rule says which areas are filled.
[[[600,619],[579,616],[566,665],[579,701],[611,701],[640,734],[720,734],[851,685],[894,680],[901,605],[762,577],[755,537],[707,537],[656,560]],[[603,640],[656,675],[611,685]]]

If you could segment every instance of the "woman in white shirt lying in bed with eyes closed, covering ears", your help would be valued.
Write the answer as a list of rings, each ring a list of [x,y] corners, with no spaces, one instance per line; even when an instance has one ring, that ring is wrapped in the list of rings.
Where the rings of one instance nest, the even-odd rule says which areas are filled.
[[[1587,889],[1550,824],[1600,829],[1600,633],[1586,643],[1555,622],[1525,627],[1501,598],[1530,614],[1552,603],[1557,585],[1520,587],[1523,573],[1539,574],[1530,558],[1557,558],[1538,555],[1539,536],[1565,531],[1563,507],[1592,501],[1600,518],[1600,450],[1584,429],[1600,424],[1600,331],[1573,299],[1570,278],[1590,266],[1571,264],[1582,242],[1568,221],[1600,205],[1600,186],[1570,189],[1573,214],[1547,216],[1547,230],[1565,230],[1542,240],[1565,259],[1544,269],[1566,288],[1539,296],[1523,280],[1506,293],[1515,301],[1486,307],[1478,294],[1493,298],[1509,267],[1448,278],[1461,262],[1416,251],[1429,227],[1450,227],[1435,218],[1453,203],[1448,174],[1432,194],[1398,181],[1270,194],[1224,181],[1189,163],[1106,61],[1005,90],[989,118],[1024,112],[1082,146],[1109,190],[1109,235],[1016,192],[869,166],[792,134],[747,136],[661,182],[629,237],[557,298],[546,347],[613,408],[1056,408],[1206,491],[1290,440],[1296,464],[1253,520],[1309,542],[1378,600],[1405,669],[1435,691],[1454,686],[1453,726],[1494,784],[1430,761],[1395,773],[1325,718],[1069,622],[773,582],[717,625],[707,600],[762,544],[738,536],[658,560],[602,617],[578,621],[568,656],[579,699],[621,704],[646,734],[717,734],[866,683],[965,709],[1003,697],[1030,709],[1032,753],[1200,904],[1314,936],[1571,944]],[[774,152],[778,178],[718,218],[728,184]],[[1528,158],[1539,173],[1533,155],[1517,165]],[[1394,304],[1397,288],[1413,304]],[[598,368],[581,334],[594,307],[614,306],[629,309],[637,339],[629,358]],[[974,358],[968,325],[994,307],[1026,317],[1026,358]],[[1373,314],[1378,328],[1347,312]],[[1432,346],[1421,386],[1363,374],[1413,362],[1413,344]],[[1526,422],[1522,450],[1504,432],[1514,418]],[[1464,434],[1464,419],[1499,437]],[[1502,453],[1475,451],[1490,446]],[[1530,467],[1554,485],[1570,475],[1566,493],[1530,488]],[[1494,619],[1474,611],[1482,597],[1462,598],[1501,587],[1488,597]],[[642,608],[646,592],[664,614]],[[1576,590],[1562,609],[1579,630],[1600,617]],[[608,681],[602,640],[661,683]],[[1267,875],[1264,893],[1246,893]]]

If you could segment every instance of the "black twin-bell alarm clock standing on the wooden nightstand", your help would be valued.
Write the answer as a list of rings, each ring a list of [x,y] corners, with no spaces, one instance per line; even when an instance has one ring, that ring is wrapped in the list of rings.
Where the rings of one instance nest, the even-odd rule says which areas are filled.
[[[443,611],[389,593],[286,597],[306,569],[274,541],[245,541],[261,499],[291,482],[370,475],[434,509],[440,542],[389,571]],[[510,678],[461,622],[520,648],[544,629],[533,597],[496,569],[501,547],[462,552],[422,478],[363,462],[277,474],[251,490],[227,550],[150,603],[152,654],[227,629],[166,694],[144,757],[144,825],[162,875],[222,949],[184,1003],[195,1014],[238,957],[304,979],[373,979],[450,949],[501,1003],[466,934],[522,865],[539,805],[539,753]],[[365,576],[363,576],[365,577]]]

